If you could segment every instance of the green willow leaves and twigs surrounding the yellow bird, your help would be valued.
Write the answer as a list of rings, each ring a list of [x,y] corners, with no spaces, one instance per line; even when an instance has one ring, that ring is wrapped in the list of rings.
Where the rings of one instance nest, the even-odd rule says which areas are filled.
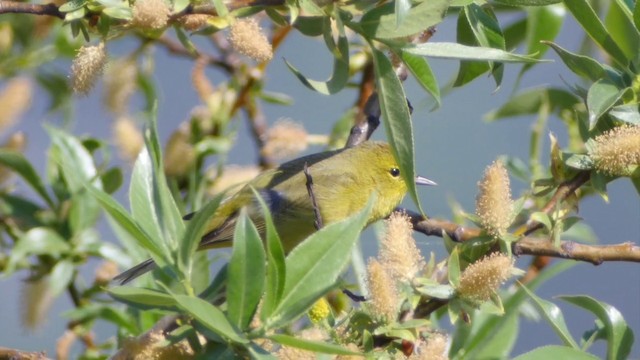
[[[23,5],[27,4],[7,3],[3,9],[27,13]],[[74,308],[66,316],[70,331],[78,338],[89,333],[98,320],[115,324],[117,341],[84,341],[84,358],[105,358],[116,351],[123,357],[180,354],[286,358],[315,352],[339,358],[359,354],[371,358],[509,358],[516,355],[512,348],[525,311],[544,318],[563,345],[532,349],[518,359],[593,358],[587,351],[597,340],[606,343],[608,359],[624,359],[631,353],[633,333],[611,305],[587,295],[561,297],[596,318],[595,328],[576,340],[560,308],[534,293],[542,283],[567,270],[571,262],[542,268],[532,263],[523,275],[512,268],[511,257],[524,251],[526,255],[594,263],[639,261],[638,248],[629,244],[624,249],[630,251],[624,254],[616,252],[617,248],[605,254],[597,247],[578,254],[563,246],[563,238],[570,231],[574,237],[578,233],[577,240],[588,240],[575,231],[581,220],[573,215],[583,198],[595,193],[607,199],[607,184],[620,178],[630,179],[640,192],[640,155],[634,155],[640,154],[640,143],[633,142],[640,137],[638,131],[633,132],[640,126],[640,7],[636,4],[616,0],[602,9],[597,2],[586,0],[72,0],[59,7],[29,5],[33,5],[30,15],[0,16],[0,71],[4,78],[33,76],[50,96],[48,111],[62,114],[67,121],[72,119],[73,92],[79,90],[67,83],[65,75],[44,65],[75,56],[74,67],[81,66],[82,61],[93,61],[78,59],[76,51],[81,47],[102,49],[104,44],[123,37],[140,40],[136,51],[109,60],[117,64],[116,71],[106,69],[105,79],[109,85],[105,85],[104,102],[120,125],[130,126],[134,116],[129,109],[132,94],[140,92],[145,100],[142,114],[136,114],[144,119],[144,136],[136,134],[134,124],[117,139],[122,155],[135,158],[128,189],[129,210],[114,196],[123,184],[126,165],[114,165],[117,162],[105,139],[82,138],[64,127],[46,125],[51,146],[44,175],[35,170],[20,146],[8,142],[0,149],[2,274],[29,273],[29,281],[44,286],[50,297],[68,293]],[[568,17],[566,10],[585,34],[584,47],[577,53],[555,40]],[[509,16],[505,16],[507,13]],[[433,28],[445,17],[457,19],[456,43],[432,41]],[[265,90],[265,69],[271,56],[262,54],[265,57],[260,57],[257,64],[250,58],[239,58],[238,52],[250,57],[251,46],[265,44],[229,44],[223,37],[227,28],[247,18],[268,22],[267,36],[264,30],[249,24],[248,29],[260,33],[245,38],[239,34],[240,40],[233,41],[262,41],[264,37],[270,41],[270,49],[277,51],[292,31],[324,40],[333,56],[328,80],[310,79],[295,64],[287,65],[301,85],[325,95],[338,94],[359,81],[359,106],[345,115],[354,128],[362,125],[358,119],[367,115],[371,118],[371,109],[364,104],[371,96],[366,89],[375,87],[379,106],[373,117],[382,117],[409,194],[421,213],[414,182],[411,106],[403,87],[409,74],[440,104],[444,92],[429,65],[431,58],[459,61],[451,86],[465,86],[488,74],[500,87],[505,67],[521,66],[518,77],[522,77],[544,62],[545,53],[551,49],[581,82],[566,88],[524,90],[487,115],[489,121],[537,115],[528,164],[515,158],[502,159],[512,175],[531,184],[520,198],[504,205],[512,214],[509,231],[491,232],[483,214],[465,214],[464,219],[456,221],[471,227],[475,224],[475,232],[468,232],[473,236],[461,238],[449,231],[448,225],[433,232],[443,237],[450,254],[447,259],[436,261],[432,257],[420,263],[419,270],[408,278],[391,276],[383,286],[392,290],[386,295],[373,291],[371,282],[382,280],[371,276],[373,271],[369,269],[371,291],[367,301],[358,302],[361,299],[353,293],[365,293],[366,289],[340,291],[355,285],[339,278],[350,265],[357,276],[367,275],[364,266],[357,265],[364,263],[362,259],[351,261],[351,257],[357,254],[356,242],[370,207],[319,229],[285,256],[269,208],[263,204],[265,239],[241,212],[228,261],[212,261],[196,252],[207,220],[224,201],[224,192],[215,186],[226,181],[225,174],[232,171],[225,168],[225,158],[235,145],[234,123],[240,112],[255,134],[261,168],[272,167],[279,160],[280,153],[270,149],[296,152],[313,141],[342,146],[348,136],[349,126],[344,126],[344,120],[336,122],[331,136],[320,140],[304,131],[300,136],[300,129],[286,126],[277,134],[269,133],[261,104],[288,102],[288,96]],[[505,22],[508,24],[503,25]],[[192,41],[196,37],[210,39],[216,45],[216,55],[199,49]],[[194,60],[194,88],[203,103],[175,130],[164,150],[156,128],[156,89],[149,68],[144,66],[145,61],[152,62],[148,49],[154,46]],[[590,47],[595,50],[589,51]],[[518,48],[525,54],[514,51]],[[103,70],[105,59],[99,61],[92,65],[95,72]],[[226,81],[211,84],[204,72],[206,67],[220,70]],[[119,78],[118,73],[131,76]],[[74,75],[72,78],[80,78]],[[94,75],[99,76],[86,75],[87,81],[95,81]],[[92,84],[85,85],[82,89]],[[0,95],[0,108],[8,106],[3,99]],[[542,130],[552,115],[562,120],[567,138],[559,141],[552,136],[550,159],[546,161],[542,158]],[[7,118],[3,113],[0,117]],[[0,118],[0,130],[9,122]],[[620,130],[623,128],[632,130]],[[622,139],[621,134],[631,140]],[[144,145],[137,143],[140,139],[144,139]],[[567,147],[561,149],[560,142]],[[629,160],[608,164],[611,156],[605,152],[610,148],[616,156],[623,154],[622,158]],[[215,175],[211,175],[211,168],[216,170]],[[17,175],[32,194],[17,193],[7,180],[9,173]],[[510,194],[508,181],[504,186],[499,189]],[[188,210],[198,211],[184,221],[183,214]],[[119,245],[104,241],[98,233],[102,212],[107,214]],[[421,231],[422,217],[412,215],[412,220]],[[544,247],[545,251],[542,245],[526,247],[531,237],[550,245]],[[507,259],[501,263],[507,265],[498,269],[499,274],[482,270],[482,264],[491,264],[496,258],[487,255],[499,251]],[[126,268],[148,256],[157,269],[153,277],[147,276],[135,286],[109,284],[113,271],[105,271],[106,275],[96,276],[89,284],[80,276],[80,268],[89,259]],[[422,259],[422,255],[417,258]],[[382,255],[379,260],[383,266],[393,266]],[[212,262],[221,267],[213,279],[208,271]],[[472,282],[469,279],[482,278],[487,272],[487,276],[498,277],[495,286],[481,289],[482,296],[466,295],[477,285],[465,285]],[[532,272],[535,274],[529,276]],[[499,290],[511,276],[520,276],[520,281]],[[376,301],[387,295],[393,304],[382,314],[376,310]],[[327,300],[330,306],[322,310]],[[450,334],[437,330],[438,321],[446,318],[454,324]],[[153,334],[162,335],[154,338]]]

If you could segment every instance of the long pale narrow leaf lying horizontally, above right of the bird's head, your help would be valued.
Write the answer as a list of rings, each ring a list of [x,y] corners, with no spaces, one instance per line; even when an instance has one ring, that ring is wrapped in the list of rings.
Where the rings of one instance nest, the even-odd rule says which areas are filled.
[[[429,42],[402,48],[411,54],[454,60],[500,61],[507,63],[541,62],[533,55],[518,55],[500,49],[466,46],[457,43]]]

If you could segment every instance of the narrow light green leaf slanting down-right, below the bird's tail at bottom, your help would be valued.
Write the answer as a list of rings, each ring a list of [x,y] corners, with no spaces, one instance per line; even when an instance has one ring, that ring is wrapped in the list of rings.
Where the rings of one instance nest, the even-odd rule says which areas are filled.
[[[240,331],[224,316],[224,313],[210,303],[193,296],[173,295],[178,306],[191,314],[205,328],[220,335],[224,339],[238,344],[247,344],[247,340]]]

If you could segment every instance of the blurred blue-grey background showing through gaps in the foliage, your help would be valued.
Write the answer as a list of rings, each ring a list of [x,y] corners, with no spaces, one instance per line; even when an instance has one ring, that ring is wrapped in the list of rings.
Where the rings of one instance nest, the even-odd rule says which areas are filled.
[[[582,32],[568,16],[556,42],[569,50],[576,51],[575,47],[579,42],[577,34],[581,36]],[[438,26],[432,41],[455,42],[455,36],[455,19],[448,17]],[[206,51],[206,43],[202,46]],[[108,44],[108,51],[113,56],[117,56],[128,53],[132,47],[133,44],[128,41],[113,41]],[[164,49],[156,51],[154,80],[159,90],[158,122],[160,135],[166,141],[171,132],[188,118],[192,108],[199,104],[199,99],[191,84],[193,62],[169,55]],[[292,34],[274,57],[275,59],[266,70],[269,86],[267,90],[294,94],[294,103],[291,106],[266,104],[264,113],[267,121],[273,124],[278,119],[290,118],[302,123],[309,133],[329,133],[335,121],[353,105],[356,92],[346,89],[336,96],[323,96],[312,92],[295,78],[283,60],[293,63],[309,78],[326,78],[331,72],[332,57],[324,44],[320,39],[317,42],[308,41],[308,39],[303,41],[299,34]],[[521,89],[566,87],[566,84],[577,81],[562,62],[557,60],[554,53],[547,53],[545,58],[555,61],[538,65],[527,72],[517,89],[514,85],[521,65],[506,65],[504,82],[500,89],[495,88],[493,79],[480,77],[469,86],[454,89],[444,95],[441,106],[433,111],[431,111],[433,101],[409,77],[405,83],[405,89],[415,109],[413,123],[417,172],[439,184],[437,187],[419,189],[420,200],[427,214],[450,219],[453,203],[458,203],[464,210],[473,212],[476,184],[484,168],[500,155],[509,154],[522,159],[527,158],[529,130],[535,120],[534,116],[510,118],[491,124],[485,123],[483,116],[502,105],[514,92],[517,93]],[[457,61],[430,60],[430,64],[441,85],[450,82],[458,68]],[[56,71],[67,72],[70,62],[55,61],[47,66]],[[214,84],[220,79],[215,71],[208,74]],[[75,119],[77,120],[71,124],[75,134],[104,137],[105,133],[111,132],[113,119],[112,115],[102,107],[101,90],[101,84],[98,84],[89,96],[76,99]],[[45,116],[48,101],[45,92],[36,90],[32,108],[10,131],[21,130],[27,134],[26,156],[34,162],[40,173],[45,172],[44,155],[49,147],[43,124],[61,125],[61,119]],[[142,102],[142,99],[136,101]],[[136,101],[132,108],[136,107]],[[235,121],[235,126],[237,126],[238,138],[228,162],[255,164],[256,148],[246,122],[244,119],[239,119]],[[566,132],[560,121],[552,120],[548,124],[547,132],[556,134],[561,147],[566,145],[563,143]],[[384,129],[379,128],[374,137],[385,139]],[[315,147],[308,151],[320,150],[322,148]],[[548,153],[548,146],[545,151]],[[131,167],[129,166],[128,169],[130,170]],[[130,172],[125,174],[125,184],[117,193],[118,200],[127,206],[126,179],[129,176]],[[518,196],[528,188],[528,184],[521,183],[512,177],[512,187],[514,196]],[[609,203],[604,202],[600,197],[592,196],[581,202],[578,215],[591,225],[593,233],[602,244],[638,242],[640,240],[640,202],[635,189],[630,181],[622,179],[611,183],[608,190]],[[19,187],[17,191],[28,192],[25,187]],[[406,199],[403,206],[409,209],[416,208],[410,199]],[[114,243],[118,242],[104,221],[101,237]],[[421,234],[416,234],[415,238],[425,256],[428,256],[429,252],[434,252],[438,260],[446,256],[440,238],[425,237]],[[375,254],[374,231],[365,232],[361,239],[361,246],[365,257]],[[518,260],[517,266],[525,269],[529,261],[530,257],[525,256]],[[84,267],[83,271],[88,279],[93,277],[95,267],[96,263],[91,261]],[[23,311],[22,288],[20,276],[0,279],[0,289],[3,294],[2,307],[0,307],[0,324],[2,324],[0,346],[33,351],[44,350],[52,356],[55,342],[64,332],[67,323],[64,312],[71,308],[71,302],[65,296],[56,299],[42,328],[29,331],[21,325],[20,320],[20,314]],[[592,295],[617,308],[633,328],[636,337],[640,334],[640,268],[637,264],[608,262],[596,267],[588,263],[578,263],[569,271],[545,283],[537,294],[548,300],[553,300],[550,297],[557,294]],[[565,312],[566,321],[574,337],[580,338],[583,331],[593,327],[594,318],[590,313],[576,307],[565,306],[562,301],[556,303]],[[446,326],[445,323],[442,325]],[[98,338],[104,339],[115,335],[115,328],[107,324],[100,324],[96,329]],[[520,332],[514,354],[521,354],[544,344],[561,344],[553,330],[544,321],[524,320],[521,322]],[[601,356],[605,353],[602,345],[596,345],[594,349]],[[632,355],[633,358],[640,358],[637,344]]]

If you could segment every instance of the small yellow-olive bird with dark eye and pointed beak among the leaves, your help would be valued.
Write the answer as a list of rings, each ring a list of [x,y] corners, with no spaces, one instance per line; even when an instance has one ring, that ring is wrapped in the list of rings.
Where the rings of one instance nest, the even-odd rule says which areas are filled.
[[[366,141],[358,146],[304,156],[267,170],[225,199],[206,227],[199,250],[229,247],[239,210],[247,208],[261,235],[265,221],[257,190],[269,206],[285,252],[316,231],[314,207],[304,167],[313,180],[313,195],[324,224],[340,221],[362,210],[375,194],[367,224],[389,215],[407,193],[400,168],[386,143]],[[435,185],[416,177],[416,184]],[[153,269],[149,259],[115,277],[122,284]]]

